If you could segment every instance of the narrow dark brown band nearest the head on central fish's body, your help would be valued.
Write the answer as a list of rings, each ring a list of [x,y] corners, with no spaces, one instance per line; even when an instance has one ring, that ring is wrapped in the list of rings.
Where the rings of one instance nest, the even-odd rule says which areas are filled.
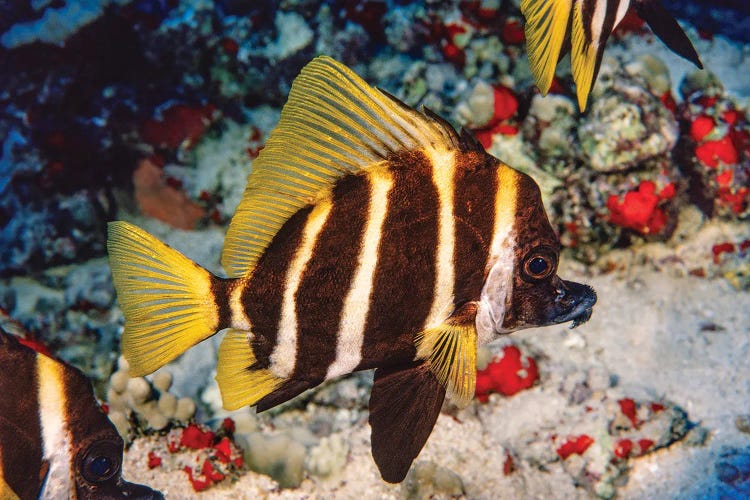
[[[453,213],[455,303],[478,300],[495,227],[498,162],[487,153],[459,153],[456,158]]]

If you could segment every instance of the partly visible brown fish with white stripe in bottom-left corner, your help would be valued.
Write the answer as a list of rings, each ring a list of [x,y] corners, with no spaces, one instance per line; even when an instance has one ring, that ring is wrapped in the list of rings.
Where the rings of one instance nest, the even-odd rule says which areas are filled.
[[[0,499],[161,499],[122,480],[123,442],[77,369],[0,330]]]

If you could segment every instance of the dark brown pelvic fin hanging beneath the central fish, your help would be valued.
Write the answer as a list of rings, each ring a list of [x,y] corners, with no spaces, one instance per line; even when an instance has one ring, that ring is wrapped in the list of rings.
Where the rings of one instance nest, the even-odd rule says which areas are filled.
[[[435,426],[445,389],[426,363],[378,368],[370,395],[372,456],[380,475],[400,483]]]

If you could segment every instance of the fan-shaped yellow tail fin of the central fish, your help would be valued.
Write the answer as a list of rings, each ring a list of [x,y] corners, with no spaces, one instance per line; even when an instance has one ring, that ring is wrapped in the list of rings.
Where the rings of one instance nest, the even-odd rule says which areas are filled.
[[[218,278],[127,222],[109,223],[107,249],[131,376],[153,372],[216,333]]]

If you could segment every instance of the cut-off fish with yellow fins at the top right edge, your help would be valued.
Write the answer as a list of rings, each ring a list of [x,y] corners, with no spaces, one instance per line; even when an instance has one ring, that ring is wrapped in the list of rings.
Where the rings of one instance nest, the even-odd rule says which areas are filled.
[[[586,109],[607,39],[631,7],[673,52],[703,69],[693,44],[659,0],[521,0],[531,73],[543,95],[571,52],[578,105]]]

